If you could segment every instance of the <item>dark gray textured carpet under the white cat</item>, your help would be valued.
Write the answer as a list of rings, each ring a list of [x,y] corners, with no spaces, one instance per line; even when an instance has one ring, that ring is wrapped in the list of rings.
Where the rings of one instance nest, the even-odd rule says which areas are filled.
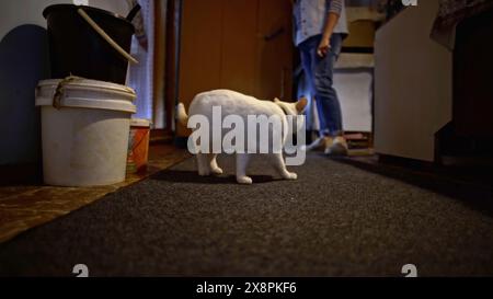
[[[243,186],[186,160],[1,244],[0,275],[493,275],[489,214],[319,154],[291,170]]]

